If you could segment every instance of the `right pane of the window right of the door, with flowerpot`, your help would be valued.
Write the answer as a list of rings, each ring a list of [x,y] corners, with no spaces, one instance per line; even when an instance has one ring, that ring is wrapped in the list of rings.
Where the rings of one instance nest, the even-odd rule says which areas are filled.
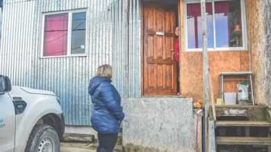
[[[215,1],[215,31],[217,48],[243,46],[240,0]]]

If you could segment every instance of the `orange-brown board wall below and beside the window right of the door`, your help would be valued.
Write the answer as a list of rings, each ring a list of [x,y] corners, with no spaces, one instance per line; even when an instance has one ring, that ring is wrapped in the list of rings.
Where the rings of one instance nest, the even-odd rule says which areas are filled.
[[[181,95],[203,99],[203,57],[202,53],[188,53],[185,50],[184,10],[181,1]],[[213,84],[213,94],[216,100],[220,91],[220,73],[249,71],[249,52],[213,51],[208,53],[208,62]],[[236,92],[240,82],[224,84],[224,92]]]

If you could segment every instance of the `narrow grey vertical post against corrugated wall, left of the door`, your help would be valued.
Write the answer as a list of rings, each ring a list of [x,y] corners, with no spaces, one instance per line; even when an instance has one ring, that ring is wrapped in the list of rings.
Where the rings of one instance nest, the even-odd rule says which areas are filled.
[[[122,26],[124,53],[124,99],[129,97],[129,0],[123,0]]]

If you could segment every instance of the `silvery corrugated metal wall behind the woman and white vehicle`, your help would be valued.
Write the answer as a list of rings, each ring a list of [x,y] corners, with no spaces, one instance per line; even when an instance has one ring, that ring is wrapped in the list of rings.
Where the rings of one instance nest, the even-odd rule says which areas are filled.
[[[123,96],[124,51],[129,51],[129,95],[140,97],[140,7],[130,1],[129,50],[122,49],[122,1],[6,0],[0,73],[13,84],[54,91],[62,101],[66,124],[90,125],[88,82],[101,64],[114,68],[113,84]],[[87,10],[86,57],[40,58],[42,13]]]

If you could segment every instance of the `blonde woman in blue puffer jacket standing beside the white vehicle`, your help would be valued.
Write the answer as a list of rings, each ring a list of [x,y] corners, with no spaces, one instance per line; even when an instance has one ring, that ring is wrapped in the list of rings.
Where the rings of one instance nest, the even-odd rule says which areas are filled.
[[[98,132],[97,152],[112,152],[117,142],[120,123],[124,119],[121,97],[111,84],[113,68],[108,64],[99,66],[95,77],[90,79],[88,93],[94,111],[91,116],[93,129]]]

